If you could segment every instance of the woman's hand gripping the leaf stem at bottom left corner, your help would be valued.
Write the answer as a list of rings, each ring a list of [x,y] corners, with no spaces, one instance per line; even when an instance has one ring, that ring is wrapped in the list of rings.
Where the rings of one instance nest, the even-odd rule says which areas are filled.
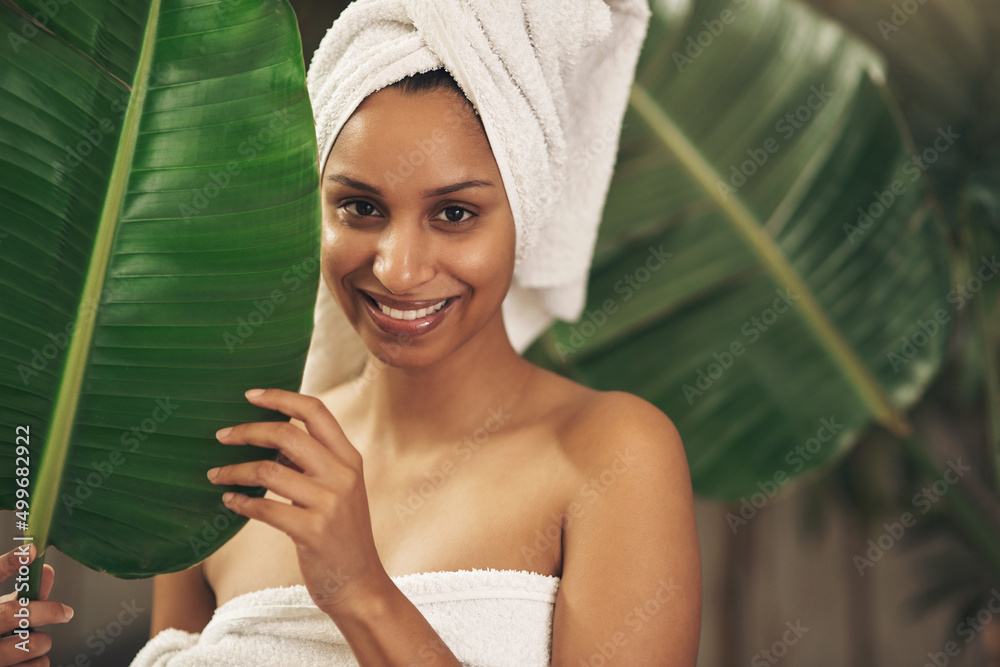
[[[33,560],[35,560],[33,544],[28,546],[27,553],[19,547],[0,556],[0,583],[13,577],[21,566],[28,566]],[[0,637],[3,637],[0,639],[0,666],[41,667],[49,664],[49,659],[44,656],[52,648],[52,640],[47,634],[35,628],[50,623],[65,623],[73,618],[72,609],[59,602],[48,600],[54,577],[55,570],[52,566],[43,565],[42,582],[38,591],[40,599],[27,605],[30,626],[23,625],[22,617],[18,615],[25,609],[18,602],[18,595],[24,591],[15,590],[0,597]],[[31,631],[24,634],[26,627],[30,627]],[[25,651],[24,648],[28,650]]]

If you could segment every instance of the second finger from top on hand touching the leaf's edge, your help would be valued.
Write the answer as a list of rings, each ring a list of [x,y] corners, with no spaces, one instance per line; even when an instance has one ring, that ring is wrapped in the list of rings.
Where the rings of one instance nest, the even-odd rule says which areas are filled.
[[[326,477],[347,462],[324,447],[309,433],[288,422],[249,422],[220,429],[216,434],[225,445],[256,445],[277,449],[306,474]]]

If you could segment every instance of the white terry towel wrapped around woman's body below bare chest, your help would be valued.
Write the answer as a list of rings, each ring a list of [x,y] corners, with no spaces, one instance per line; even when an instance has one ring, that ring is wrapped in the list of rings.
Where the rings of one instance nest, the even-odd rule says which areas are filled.
[[[550,664],[559,577],[475,569],[407,574],[393,582],[463,665]],[[433,655],[425,647],[416,662]],[[200,634],[164,630],[132,662],[132,667],[283,665],[358,665],[339,628],[316,607],[305,586],[237,596],[215,610]]]

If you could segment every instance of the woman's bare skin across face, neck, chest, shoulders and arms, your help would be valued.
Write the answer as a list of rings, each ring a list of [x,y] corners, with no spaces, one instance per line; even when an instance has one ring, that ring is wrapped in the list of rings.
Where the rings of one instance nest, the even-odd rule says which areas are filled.
[[[517,354],[501,311],[515,233],[463,98],[386,88],[355,111],[323,169],[322,271],[367,366],[320,397],[248,392],[290,421],[234,425],[219,441],[278,449],[279,462],[209,476],[268,493],[226,500],[253,520],[202,564],[157,577],[152,635],[199,632],[236,595],[298,583],[360,664],[458,665],[393,578],[515,569],[561,577],[553,665],[601,647],[613,649],[602,664],[695,664],[701,569],[680,436],[648,402]],[[458,299],[434,330],[401,338],[359,289]]]

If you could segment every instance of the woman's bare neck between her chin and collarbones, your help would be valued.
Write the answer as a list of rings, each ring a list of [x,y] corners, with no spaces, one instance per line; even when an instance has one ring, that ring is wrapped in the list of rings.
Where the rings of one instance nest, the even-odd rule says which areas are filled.
[[[499,313],[464,345],[427,366],[394,367],[369,352],[356,380],[367,406],[369,442],[391,455],[430,453],[477,429],[495,430],[496,415],[517,418],[515,403],[531,369],[510,344]]]

